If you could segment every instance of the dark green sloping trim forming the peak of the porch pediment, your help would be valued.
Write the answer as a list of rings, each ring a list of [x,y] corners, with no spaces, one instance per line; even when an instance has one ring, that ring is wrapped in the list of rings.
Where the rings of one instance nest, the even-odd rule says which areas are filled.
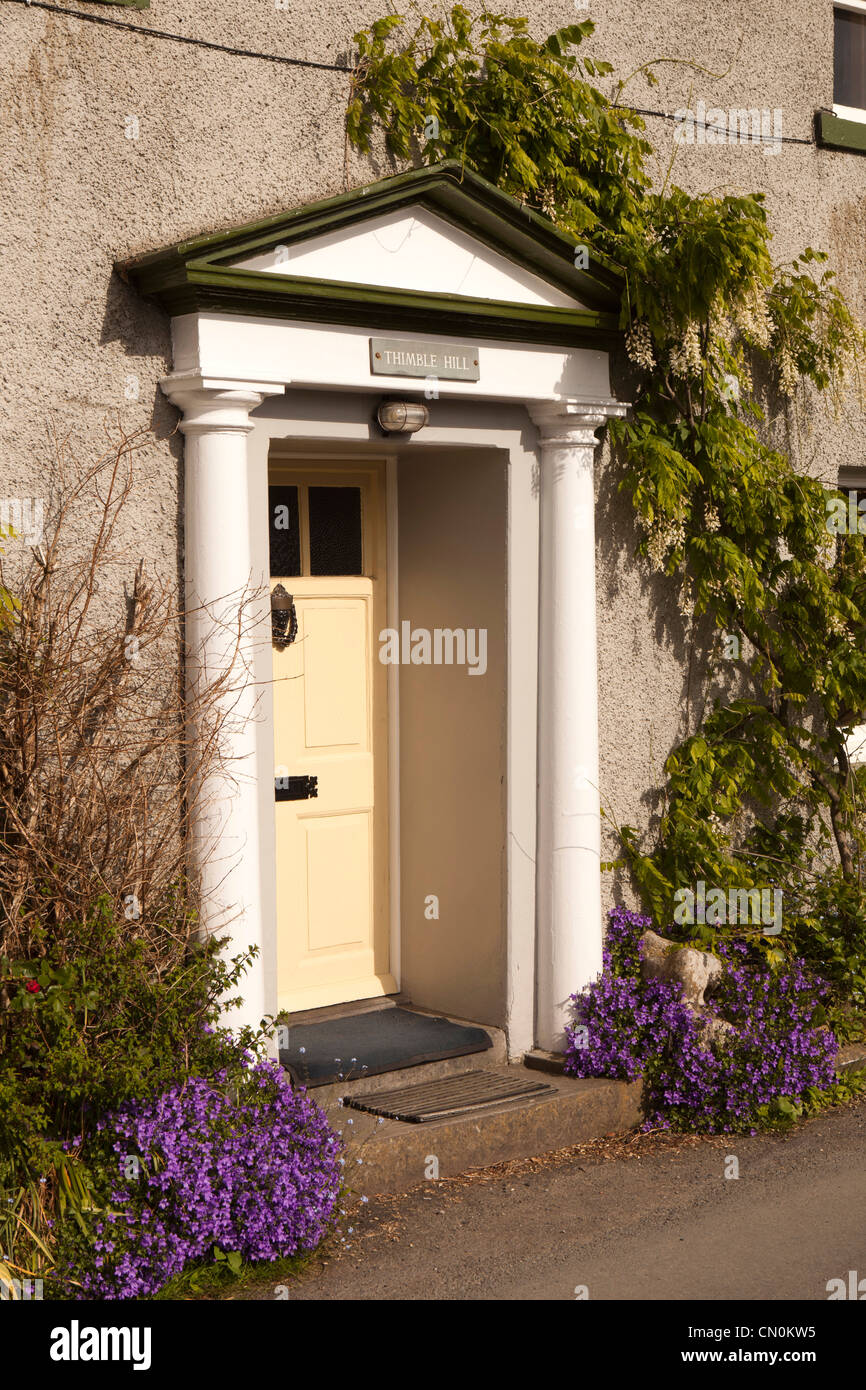
[[[406,174],[352,189],[348,193],[339,193],[289,213],[249,222],[234,231],[211,232],[207,236],[179,242],[177,246],[118,264],[117,268],[125,279],[135,284],[142,295],[153,296],[167,304],[170,302],[188,303],[196,297],[190,295],[189,286],[195,282],[199,289],[203,288],[199,275],[190,277],[193,267],[196,271],[224,272],[228,270],[227,261],[238,260],[242,256],[261,254],[277,245],[292,245],[310,236],[356,225],[370,217],[378,217],[409,204],[421,204],[455,227],[468,231],[510,260],[574,295],[591,311],[603,317],[619,316],[624,281],[612,263],[589,247],[589,270],[578,270],[574,265],[574,247],[581,245],[577,238],[562,232],[549,218],[502,193],[487,179],[461,168],[456,161],[410,170]],[[236,268],[235,272],[238,275],[254,274],[236,271]],[[281,296],[279,313],[286,317],[289,316],[282,297],[285,285],[313,284],[282,275],[278,281],[277,277],[268,275],[265,281],[267,292]],[[186,292],[183,286],[186,286]],[[245,279],[243,286],[254,291],[257,307],[249,310],[236,307],[227,311],[264,313],[265,310],[261,307],[264,285],[259,279],[254,284]],[[224,296],[228,295],[229,289],[236,295],[240,288],[239,282],[232,282],[229,286],[224,279],[210,285],[211,291],[220,289]],[[370,302],[371,291],[368,286],[341,286],[343,299],[349,292],[352,299],[359,303]],[[407,300],[407,296],[402,297]],[[423,296],[428,307],[435,297]],[[487,302],[478,300],[478,304],[484,303]],[[455,302],[449,300],[449,304],[453,310]],[[516,307],[512,306],[512,310]],[[181,311],[188,313],[189,309]],[[345,306],[345,311],[348,311],[348,306]],[[571,314],[573,311],[557,310],[557,313]],[[585,325],[581,327],[585,331]]]

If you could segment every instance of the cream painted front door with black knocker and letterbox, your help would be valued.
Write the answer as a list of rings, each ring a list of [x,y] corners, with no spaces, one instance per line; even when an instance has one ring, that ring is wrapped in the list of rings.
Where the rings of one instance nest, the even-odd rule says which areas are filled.
[[[274,645],[278,1005],[396,991],[389,972],[382,464],[271,460],[271,588],[297,634]],[[316,778],[316,795],[303,794]],[[309,785],[309,784],[307,784]]]

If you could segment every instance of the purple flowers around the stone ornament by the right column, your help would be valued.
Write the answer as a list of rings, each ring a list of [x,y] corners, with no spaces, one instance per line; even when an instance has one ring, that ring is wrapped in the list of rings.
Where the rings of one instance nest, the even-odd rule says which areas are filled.
[[[728,1133],[755,1126],[762,1106],[834,1080],[837,1040],[820,1026],[827,986],[801,962],[773,972],[746,963],[741,942],[720,947],[726,970],[713,1012],[731,1030],[710,1038],[677,981],[641,980],[649,917],[614,908],[599,979],[573,995],[566,1072],[644,1080],[646,1129]]]

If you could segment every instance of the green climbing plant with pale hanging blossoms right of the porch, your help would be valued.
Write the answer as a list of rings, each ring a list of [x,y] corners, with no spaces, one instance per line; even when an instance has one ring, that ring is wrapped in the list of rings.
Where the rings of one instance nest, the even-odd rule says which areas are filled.
[[[756,944],[770,960],[805,954],[863,1004],[866,774],[847,752],[866,717],[863,537],[769,428],[773,410],[838,402],[863,332],[824,253],[774,263],[760,192],[689,195],[673,168],[653,183],[631,78],[578,51],[592,33],[537,40],[527,19],[460,4],[377,19],[354,36],[348,138],[459,160],[621,268],[635,382],[630,418],[609,427],[620,485],[638,553],[678,591],[666,619],[731,692],[670,752],[652,834],[621,828],[624,862],[671,926],[695,880],[783,888],[784,930],[758,924]],[[638,76],[655,83],[652,64]],[[717,926],[684,934],[710,944]]]

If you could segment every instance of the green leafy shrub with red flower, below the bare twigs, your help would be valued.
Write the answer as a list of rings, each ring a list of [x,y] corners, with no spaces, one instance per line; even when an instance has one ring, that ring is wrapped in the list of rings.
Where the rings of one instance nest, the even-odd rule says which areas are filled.
[[[206,1033],[220,995],[243,969],[217,942],[190,942],[161,974],[143,965],[133,924],[107,902],[44,941],[33,960],[1,960],[10,1004],[0,1013],[0,1163],[38,1165],[110,1106],[178,1079],[178,1069],[240,1070],[242,1048]]]

